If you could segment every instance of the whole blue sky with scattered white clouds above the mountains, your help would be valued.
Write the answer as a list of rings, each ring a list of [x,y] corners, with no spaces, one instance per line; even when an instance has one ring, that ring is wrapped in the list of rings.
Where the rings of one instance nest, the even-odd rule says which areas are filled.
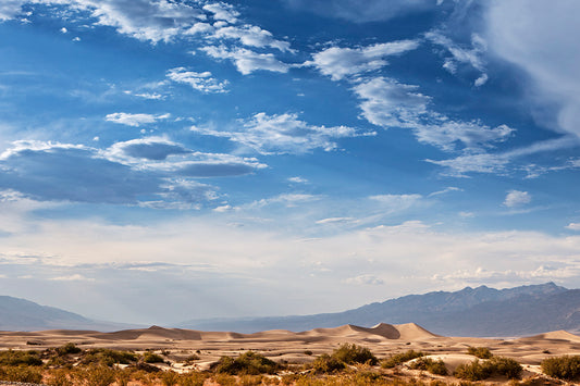
[[[3,0],[0,294],[170,325],[576,288],[579,13]]]

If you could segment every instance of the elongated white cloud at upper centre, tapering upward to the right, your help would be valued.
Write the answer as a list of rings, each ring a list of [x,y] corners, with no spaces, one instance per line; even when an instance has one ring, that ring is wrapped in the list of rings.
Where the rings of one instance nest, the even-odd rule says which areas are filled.
[[[348,75],[381,69],[388,64],[387,57],[399,55],[419,47],[417,40],[399,40],[361,48],[331,47],[312,55],[304,63],[317,67],[322,74],[340,80]]]

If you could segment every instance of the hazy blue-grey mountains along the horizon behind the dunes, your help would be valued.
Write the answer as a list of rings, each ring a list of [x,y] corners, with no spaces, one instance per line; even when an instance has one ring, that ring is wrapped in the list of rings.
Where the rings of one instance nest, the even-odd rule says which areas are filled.
[[[374,302],[336,313],[244,319],[199,319],[173,327],[255,333],[294,332],[355,324],[416,323],[446,336],[522,336],[550,331],[580,332],[580,289],[546,283],[506,289],[486,286],[458,291],[434,291]],[[115,331],[135,325],[94,321],[24,299],[0,296],[0,329]]]

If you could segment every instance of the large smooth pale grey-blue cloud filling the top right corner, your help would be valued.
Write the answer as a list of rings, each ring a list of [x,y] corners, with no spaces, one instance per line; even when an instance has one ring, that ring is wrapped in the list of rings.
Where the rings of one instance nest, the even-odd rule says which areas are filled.
[[[580,2],[575,0],[506,0],[489,2],[485,18],[491,50],[530,75],[529,94],[535,102],[559,105],[554,128],[576,136],[580,136],[579,12]]]

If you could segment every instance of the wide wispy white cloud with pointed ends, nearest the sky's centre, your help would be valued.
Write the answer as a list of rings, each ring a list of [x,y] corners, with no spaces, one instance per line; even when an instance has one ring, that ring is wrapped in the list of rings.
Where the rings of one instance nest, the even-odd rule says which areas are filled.
[[[337,148],[336,139],[357,135],[353,127],[309,125],[293,113],[258,113],[242,121],[240,127],[231,132],[200,127],[192,129],[203,135],[230,138],[262,154],[304,153],[319,148],[331,151]]]

